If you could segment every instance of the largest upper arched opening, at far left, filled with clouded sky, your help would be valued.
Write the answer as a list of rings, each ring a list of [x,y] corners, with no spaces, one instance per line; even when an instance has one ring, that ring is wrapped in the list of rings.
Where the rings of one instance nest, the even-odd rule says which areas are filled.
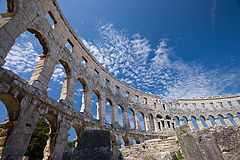
[[[43,55],[48,52],[45,39],[41,34],[33,29],[28,29],[16,40],[5,58],[6,63],[3,68],[16,73],[25,80],[30,80],[34,69]]]

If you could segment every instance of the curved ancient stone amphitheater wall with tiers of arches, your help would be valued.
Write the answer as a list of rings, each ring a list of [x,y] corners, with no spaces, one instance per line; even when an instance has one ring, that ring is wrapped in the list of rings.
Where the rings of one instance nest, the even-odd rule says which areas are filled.
[[[45,18],[47,14],[54,26]],[[8,119],[1,124],[2,159],[23,158],[40,117],[45,117],[51,127],[44,159],[62,159],[71,127],[77,138],[83,131],[110,131],[111,159],[118,159],[115,151],[120,149],[120,139],[124,140],[125,149],[147,145],[154,141],[151,139],[159,143],[176,141],[174,145],[181,148],[185,159],[236,160],[240,157],[240,95],[163,100],[120,82],[86,49],[56,0],[7,0],[7,12],[1,16],[1,66],[6,63],[16,38],[25,31],[34,34],[43,48],[29,81],[0,68],[0,100],[8,111]],[[71,50],[65,47],[66,43],[71,45]],[[48,97],[47,89],[58,62],[64,66],[66,77],[61,97],[56,101]],[[73,109],[77,81],[84,88],[80,111]],[[96,118],[91,113],[92,94],[98,97]],[[106,101],[111,105],[110,124],[106,122]],[[122,109],[123,125],[119,124],[118,106]],[[129,110],[134,116],[134,128],[130,127]],[[144,130],[139,114],[144,119]],[[132,145],[133,140],[136,145]],[[177,148],[173,147],[175,151]],[[122,156],[126,154],[122,149]]]

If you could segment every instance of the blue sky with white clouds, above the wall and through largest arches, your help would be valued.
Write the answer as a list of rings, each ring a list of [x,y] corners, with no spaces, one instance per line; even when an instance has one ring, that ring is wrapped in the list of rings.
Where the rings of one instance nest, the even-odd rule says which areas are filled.
[[[95,58],[137,89],[164,99],[240,92],[240,0],[58,3]],[[5,1],[0,0],[0,12],[4,6]],[[4,67],[28,80],[41,53],[38,41],[25,32],[16,40]],[[48,93],[56,100],[64,74],[57,65]],[[80,84],[77,89],[82,89]],[[76,91],[78,109],[79,97]]]

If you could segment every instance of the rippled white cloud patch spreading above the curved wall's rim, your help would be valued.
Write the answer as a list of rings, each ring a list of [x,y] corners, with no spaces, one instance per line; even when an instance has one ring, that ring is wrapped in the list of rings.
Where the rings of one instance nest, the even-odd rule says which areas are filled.
[[[227,66],[225,69],[231,72],[184,62],[175,56],[166,38],[151,47],[146,38],[117,30],[111,23],[101,24],[98,31],[100,39],[83,40],[96,59],[121,81],[165,99],[226,94],[226,89],[236,86],[240,78],[239,72]]]

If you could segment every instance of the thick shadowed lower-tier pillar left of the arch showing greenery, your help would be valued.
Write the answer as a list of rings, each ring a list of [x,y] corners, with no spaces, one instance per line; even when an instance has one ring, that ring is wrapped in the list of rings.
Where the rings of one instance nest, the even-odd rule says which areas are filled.
[[[21,101],[18,121],[10,123],[12,130],[7,133],[8,138],[2,151],[3,159],[8,155],[13,159],[22,159],[39,118],[35,112],[37,103],[30,97],[25,97]]]

